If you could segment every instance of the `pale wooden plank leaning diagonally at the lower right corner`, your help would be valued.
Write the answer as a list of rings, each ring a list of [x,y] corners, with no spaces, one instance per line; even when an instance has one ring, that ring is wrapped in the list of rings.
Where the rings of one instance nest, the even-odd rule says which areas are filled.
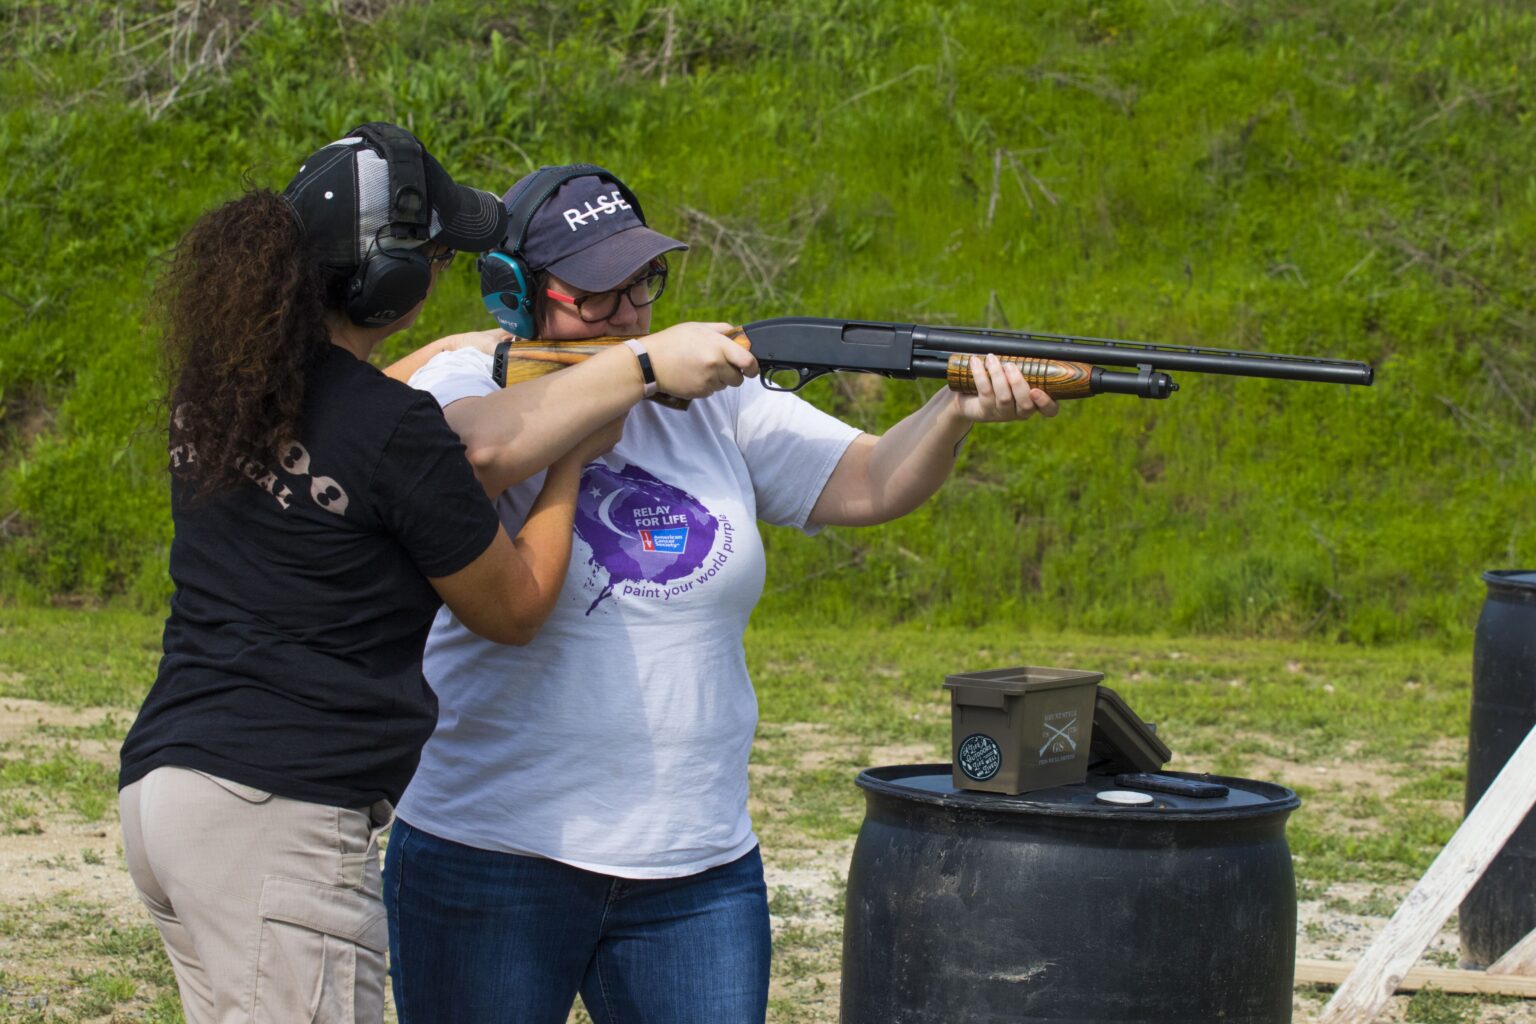
[[[1318,1024],[1367,1024],[1536,804],[1536,729],[1344,979]]]

